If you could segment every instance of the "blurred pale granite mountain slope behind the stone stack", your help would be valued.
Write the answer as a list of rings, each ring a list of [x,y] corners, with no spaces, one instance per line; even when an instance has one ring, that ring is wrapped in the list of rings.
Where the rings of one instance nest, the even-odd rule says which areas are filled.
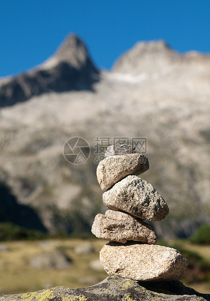
[[[69,48],[61,57],[69,57]],[[39,68],[52,70],[53,62]],[[209,55],[181,55],[162,41],[138,43],[111,71],[100,71],[91,89],[54,89],[2,108],[0,180],[19,203],[36,210],[48,231],[89,231],[95,215],[106,210],[95,176],[94,139],[147,137],[150,169],[143,179],[171,209],[169,218],[153,223],[155,230],[159,237],[188,236],[210,223],[209,98]],[[63,156],[73,136],[92,148],[81,165]]]

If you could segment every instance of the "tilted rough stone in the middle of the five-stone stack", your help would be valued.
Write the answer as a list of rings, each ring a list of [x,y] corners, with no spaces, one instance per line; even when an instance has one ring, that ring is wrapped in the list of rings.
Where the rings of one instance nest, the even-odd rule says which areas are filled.
[[[156,189],[137,176],[128,176],[104,192],[103,202],[109,209],[147,220],[159,221],[169,213],[168,205]]]

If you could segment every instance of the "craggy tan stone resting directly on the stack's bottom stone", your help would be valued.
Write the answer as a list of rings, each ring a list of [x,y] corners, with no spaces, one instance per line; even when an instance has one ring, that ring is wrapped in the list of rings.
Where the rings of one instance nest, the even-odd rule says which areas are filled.
[[[157,236],[152,226],[140,218],[113,210],[107,210],[105,215],[95,217],[92,233],[97,238],[126,243],[127,240],[156,244]]]

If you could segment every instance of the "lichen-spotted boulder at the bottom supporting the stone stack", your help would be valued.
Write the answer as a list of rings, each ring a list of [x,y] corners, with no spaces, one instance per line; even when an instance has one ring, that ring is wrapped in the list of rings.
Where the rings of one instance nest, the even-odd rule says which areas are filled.
[[[147,288],[148,287],[148,288]],[[120,277],[107,277],[98,284],[70,288],[57,286],[36,292],[0,295],[1,301],[210,301],[210,294],[201,294],[180,281],[159,283],[137,282]]]

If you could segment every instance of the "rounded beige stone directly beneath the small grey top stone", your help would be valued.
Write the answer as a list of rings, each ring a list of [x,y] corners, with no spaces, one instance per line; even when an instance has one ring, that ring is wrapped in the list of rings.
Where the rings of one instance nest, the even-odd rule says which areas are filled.
[[[145,155],[139,153],[109,156],[97,166],[97,180],[102,190],[107,190],[128,175],[140,175],[149,169]]]

